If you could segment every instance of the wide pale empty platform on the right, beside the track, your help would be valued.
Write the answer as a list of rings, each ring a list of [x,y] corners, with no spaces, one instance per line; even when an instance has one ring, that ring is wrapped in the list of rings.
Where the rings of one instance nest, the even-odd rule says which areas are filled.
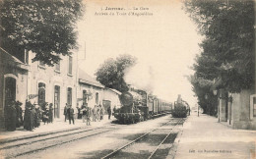
[[[175,159],[255,159],[256,131],[233,130],[208,115],[184,123]]]

